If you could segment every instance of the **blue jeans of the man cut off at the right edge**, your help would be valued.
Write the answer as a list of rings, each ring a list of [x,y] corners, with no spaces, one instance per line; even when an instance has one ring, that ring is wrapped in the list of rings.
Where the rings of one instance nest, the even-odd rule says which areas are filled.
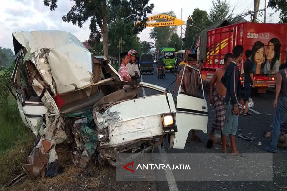
[[[279,96],[277,107],[275,109],[274,118],[273,118],[273,129],[271,135],[271,144],[270,148],[277,150],[278,140],[280,136],[280,125],[283,121],[283,117],[287,111],[287,97]]]

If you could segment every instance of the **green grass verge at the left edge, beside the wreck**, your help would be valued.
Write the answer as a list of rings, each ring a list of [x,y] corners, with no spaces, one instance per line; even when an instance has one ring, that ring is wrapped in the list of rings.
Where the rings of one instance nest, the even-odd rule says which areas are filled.
[[[0,109],[0,187],[22,173],[35,136],[23,123],[15,99]]]

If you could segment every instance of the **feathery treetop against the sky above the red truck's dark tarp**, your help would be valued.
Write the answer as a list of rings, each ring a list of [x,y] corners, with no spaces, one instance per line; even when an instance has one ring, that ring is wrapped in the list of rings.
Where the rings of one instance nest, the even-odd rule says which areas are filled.
[[[212,7],[210,7],[209,13],[210,21],[216,23],[223,19],[230,19],[233,15],[234,8],[231,10],[231,6],[226,0],[212,0]]]

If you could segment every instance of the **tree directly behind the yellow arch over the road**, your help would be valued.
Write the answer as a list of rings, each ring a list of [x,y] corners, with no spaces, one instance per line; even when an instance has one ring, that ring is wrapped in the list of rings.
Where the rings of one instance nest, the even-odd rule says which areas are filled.
[[[169,11],[168,13],[161,13],[164,15],[170,15],[172,17],[176,17],[173,11]],[[158,19],[156,22],[163,22],[164,20]],[[150,33],[150,38],[154,39],[156,48],[160,49],[163,46],[166,46],[168,43],[168,39],[170,39],[171,35],[177,32],[176,26],[168,26],[168,27],[153,27]]]

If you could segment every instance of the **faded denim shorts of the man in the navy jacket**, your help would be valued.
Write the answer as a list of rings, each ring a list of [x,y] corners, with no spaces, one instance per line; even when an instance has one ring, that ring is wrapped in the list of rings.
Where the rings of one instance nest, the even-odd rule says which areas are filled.
[[[227,137],[229,134],[236,135],[238,127],[238,115],[234,115],[232,112],[234,109],[234,104],[230,103],[230,101],[228,101],[228,103],[224,102],[224,107],[226,113],[222,133]]]

